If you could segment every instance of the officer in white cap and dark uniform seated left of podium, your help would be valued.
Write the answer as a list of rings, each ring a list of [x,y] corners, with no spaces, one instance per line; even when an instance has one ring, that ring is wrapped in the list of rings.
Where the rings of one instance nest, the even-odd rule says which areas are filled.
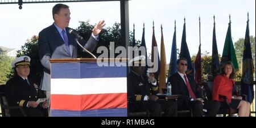
[[[36,102],[46,95],[28,78],[30,57],[16,58],[11,65],[15,67],[15,76],[6,82],[5,94],[10,106],[22,106],[27,116],[47,116],[47,102]],[[20,110],[10,110],[11,116],[22,116]]]

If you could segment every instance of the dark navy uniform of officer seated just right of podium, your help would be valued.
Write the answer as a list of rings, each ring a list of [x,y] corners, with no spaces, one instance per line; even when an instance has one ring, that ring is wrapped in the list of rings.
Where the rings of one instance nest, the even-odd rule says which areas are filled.
[[[148,82],[146,75],[138,75],[134,71],[131,71],[127,76],[127,93],[129,101],[136,104],[128,104],[130,112],[139,112],[147,108],[151,112],[151,116],[162,116],[162,110],[165,112],[165,116],[176,116],[177,105],[172,101],[152,101],[145,100],[144,96],[156,95],[159,92],[158,85],[154,86]]]

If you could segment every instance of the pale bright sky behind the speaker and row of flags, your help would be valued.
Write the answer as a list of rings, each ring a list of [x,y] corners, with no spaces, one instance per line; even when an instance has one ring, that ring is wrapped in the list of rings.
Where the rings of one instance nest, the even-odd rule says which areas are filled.
[[[27,39],[53,23],[52,7],[56,3],[0,5],[0,45],[20,49]],[[77,28],[79,21],[90,20],[94,24],[101,19],[106,27],[120,21],[119,2],[80,2],[65,3],[71,10],[69,27]],[[184,17],[186,18],[187,43],[191,56],[199,46],[199,16],[201,17],[201,50],[212,52],[213,15],[216,16],[216,37],[218,52],[222,54],[229,14],[232,21],[232,37],[236,42],[245,37],[247,12],[250,18],[250,35],[255,36],[254,0],[131,0],[129,1],[130,31],[135,24],[135,38],[141,40],[143,23],[145,39],[151,49],[152,21],[155,22],[156,41],[160,50],[160,25],[163,25],[167,63],[170,61],[174,20],[176,19],[177,48],[180,49]]]

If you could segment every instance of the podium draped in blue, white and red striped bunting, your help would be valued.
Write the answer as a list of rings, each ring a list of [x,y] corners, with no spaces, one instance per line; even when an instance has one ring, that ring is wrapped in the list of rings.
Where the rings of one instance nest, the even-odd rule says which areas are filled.
[[[127,59],[119,60],[50,59],[52,116],[127,116]]]

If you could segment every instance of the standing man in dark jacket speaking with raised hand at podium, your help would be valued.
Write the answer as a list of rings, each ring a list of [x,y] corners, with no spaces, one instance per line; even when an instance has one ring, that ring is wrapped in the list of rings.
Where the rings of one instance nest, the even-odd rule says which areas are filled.
[[[44,28],[39,33],[39,58],[44,66],[44,74],[41,80],[41,89],[47,92],[47,101],[50,101],[51,95],[51,71],[49,59],[51,58],[77,58],[77,35],[70,34],[68,27],[71,12],[69,6],[61,3],[52,8],[52,17],[54,23],[47,28]],[[92,29],[92,36],[86,42],[84,39],[79,39],[81,45],[85,49],[92,52],[98,42],[98,35],[104,27],[104,20],[98,22]],[[71,29],[72,30],[72,29]],[[49,104],[48,104],[49,105]],[[51,116],[51,113],[49,113]]]

